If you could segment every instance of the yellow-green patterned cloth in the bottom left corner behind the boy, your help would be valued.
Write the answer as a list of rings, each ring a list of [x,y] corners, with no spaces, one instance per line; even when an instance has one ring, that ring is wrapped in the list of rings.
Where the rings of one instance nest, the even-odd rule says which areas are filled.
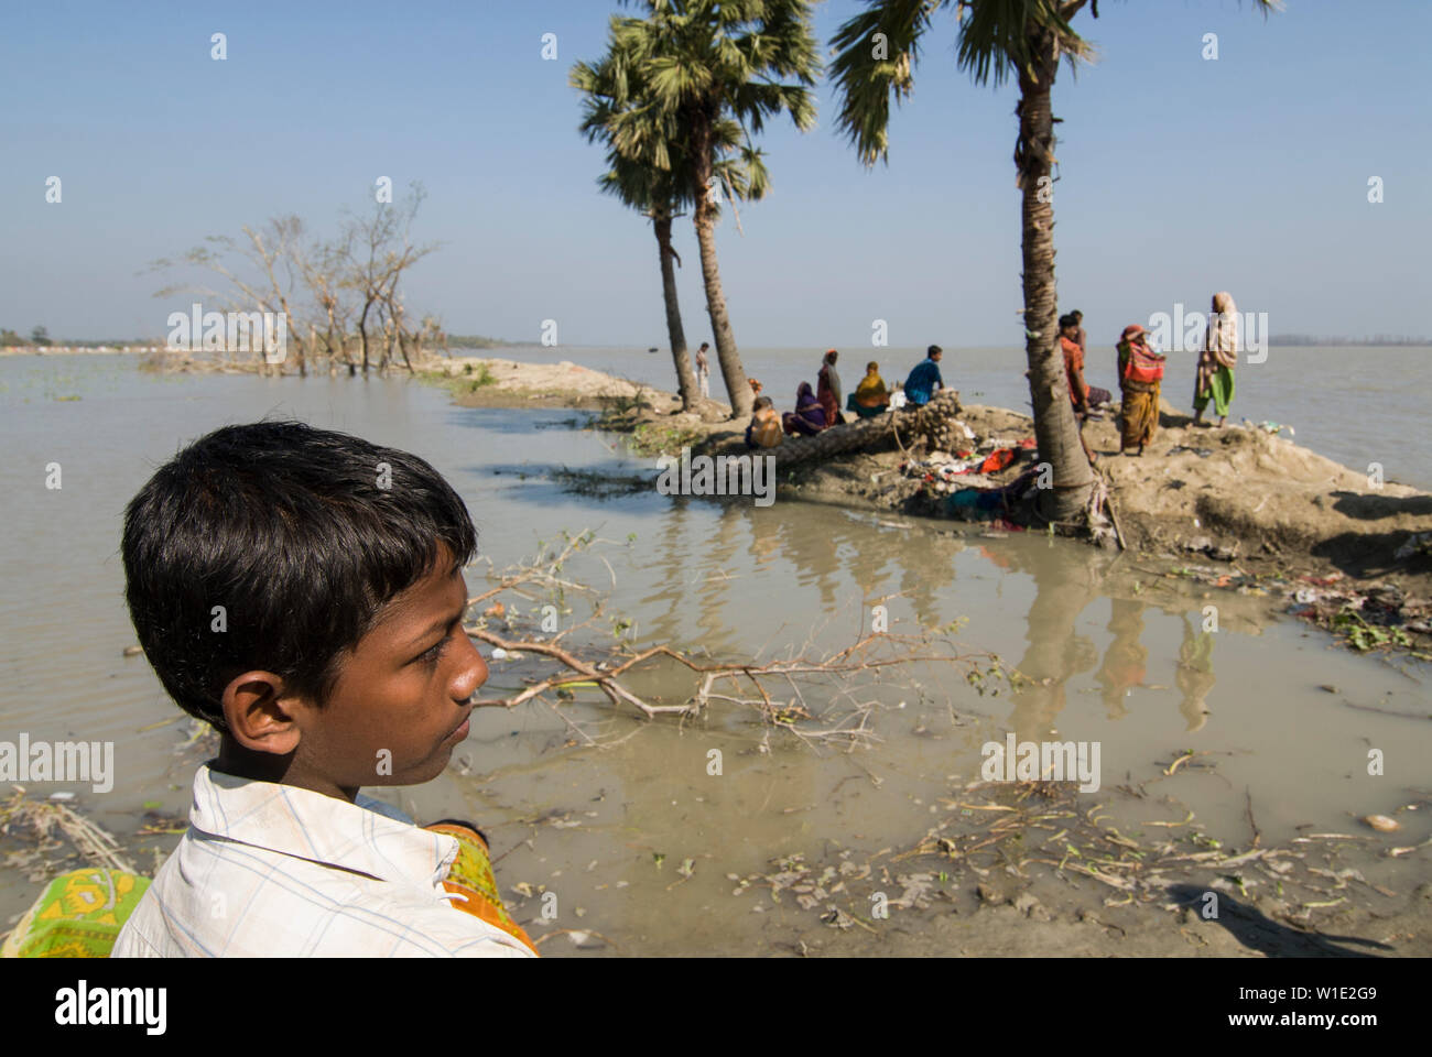
[[[0,958],[107,958],[149,878],[86,867],[50,881],[0,947]]]

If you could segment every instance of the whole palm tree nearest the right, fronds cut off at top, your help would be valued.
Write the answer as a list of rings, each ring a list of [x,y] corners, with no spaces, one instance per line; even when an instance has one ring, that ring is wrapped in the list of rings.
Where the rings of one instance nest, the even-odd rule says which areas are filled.
[[[1280,0],[1254,0],[1266,14]],[[977,85],[1020,85],[1020,136],[1014,148],[1022,190],[1024,352],[1034,402],[1034,434],[1053,467],[1053,498],[1045,516],[1075,517],[1088,503],[1093,470],[1080,443],[1058,351],[1054,291],[1054,158],[1051,89],[1060,59],[1073,67],[1093,49],[1070,26],[1085,4],[1098,17],[1098,0],[866,0],[868,7],[836,32],[831,63],[841,93],[838,126],[865,166],[889,160],[889,102],[908,97],[921,37],[931,16],[955,9],[958,63]]]

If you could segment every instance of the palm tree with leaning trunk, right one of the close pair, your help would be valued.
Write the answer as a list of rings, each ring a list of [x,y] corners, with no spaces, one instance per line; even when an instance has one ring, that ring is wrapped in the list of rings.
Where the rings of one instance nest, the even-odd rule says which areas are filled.
[[[613,149],[673,173],[693,205],[696,241],[732,417],[750,414],[753,394],[740,364],[716,261],[722,188],[735,198],[766,193],[762,155],[752,145],[768,117],[789,113],[815,125],[809,87],[821,72],[811,0],[624,0],[644,19],[613,17],[610,63]],[[783,83],[793,79],[795,83]],[[676,148],[674,150],[672,148]],[[733,179],[733,168],[745,186]]]

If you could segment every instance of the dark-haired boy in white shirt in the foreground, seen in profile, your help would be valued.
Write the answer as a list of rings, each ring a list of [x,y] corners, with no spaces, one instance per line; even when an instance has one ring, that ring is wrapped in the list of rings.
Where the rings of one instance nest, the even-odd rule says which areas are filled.
[[[125,514],[130,617],[221,733],[113,957],[531,957],[485,842],[361,796],[467,738],[477,534],[425,461],[301,423],[195,441]],[[463,912],[467,911],[467,912]]]

